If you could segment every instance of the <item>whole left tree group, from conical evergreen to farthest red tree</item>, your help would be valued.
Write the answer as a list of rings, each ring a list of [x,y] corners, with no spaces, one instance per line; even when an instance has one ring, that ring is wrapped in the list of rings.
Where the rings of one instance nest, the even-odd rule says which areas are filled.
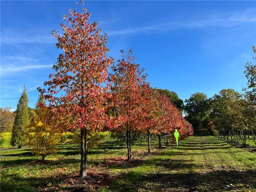
[[[72,132],[81,142],[80,177],[86,176],[88,143],[100,132],[125,134],[128,160],[136,132],[147,134],[148,152],[151,134],[159,135],[161,147],[161,134],[168,139],[178,128],[182,139],[193,133],[180,112],[183,101],[174,92],[151,88],[131,50],[127,56],[121,51],[116,63],[107,56],[107,34],[96,22],[88,22],[90,15],[84,8],[80,13],[70,9],[69,16],[63,15],[67,24],[60,25],[63,35],[52,31],[62,50],[53,65],[55,73],[44,82],[46,88],[38,88],[39,101],[31,112],[24,88],[11,140],[16,147],[33,146],[44,159],[55,150],[60,134]]]

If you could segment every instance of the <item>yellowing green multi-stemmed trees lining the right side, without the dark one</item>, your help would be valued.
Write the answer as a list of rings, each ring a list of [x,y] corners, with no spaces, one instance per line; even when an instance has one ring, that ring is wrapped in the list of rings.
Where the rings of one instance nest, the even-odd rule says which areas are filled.
[[[253,52],[256,49],[252,47]],[[255,59],[255,57],[253,58]],[[246,139],[252,136],[256,145],[256,65],[247,62],[245,65],[245,77],[248,82],[243,92],[233,89],[222,90],[219,95],[212,98],[212,128],[223,136],[236,143],[240,141],[246,146]]]

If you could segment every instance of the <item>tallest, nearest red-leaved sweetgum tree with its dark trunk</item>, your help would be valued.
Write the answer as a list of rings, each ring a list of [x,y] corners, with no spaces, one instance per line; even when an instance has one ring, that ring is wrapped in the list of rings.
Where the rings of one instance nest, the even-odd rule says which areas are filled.
[[[81,1],[83,5],[83,1]],[[56,47],[62,50],[53,65],[54,74],[44,82],[48,89],[39,88],[64,130],[79,128],[81,139],[80,177],[86,176],[87,133],[101,130],[105,124],[106,89],[112,58],[107,57],[107,35],[101,34],[96,22],[89,23],[91,13],[69,9],[61,23],[63,35],[52,31]]]

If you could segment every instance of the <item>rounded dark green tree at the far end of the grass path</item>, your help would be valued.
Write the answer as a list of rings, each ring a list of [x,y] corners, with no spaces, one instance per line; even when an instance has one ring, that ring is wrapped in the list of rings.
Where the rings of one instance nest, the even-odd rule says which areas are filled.
[[[185,100],[186,120],[193,125],[194,133],[207,133],[209,123],[210,102],[207,95],[196,92]]]

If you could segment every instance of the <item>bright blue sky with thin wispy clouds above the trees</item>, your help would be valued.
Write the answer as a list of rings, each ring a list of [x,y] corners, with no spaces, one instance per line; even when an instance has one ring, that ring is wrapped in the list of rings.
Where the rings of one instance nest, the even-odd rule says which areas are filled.
[[[1,107],[16,108],[23,85],[29,106],[60,53],[52,30],[77,1],[1,0]],[[244,65],[256,45],[255,1],[85,1],[108,34],[109,55],[132,49],[152,87],[212,97],[241,91]],[[77,7],[78,8],[78,7]]]

